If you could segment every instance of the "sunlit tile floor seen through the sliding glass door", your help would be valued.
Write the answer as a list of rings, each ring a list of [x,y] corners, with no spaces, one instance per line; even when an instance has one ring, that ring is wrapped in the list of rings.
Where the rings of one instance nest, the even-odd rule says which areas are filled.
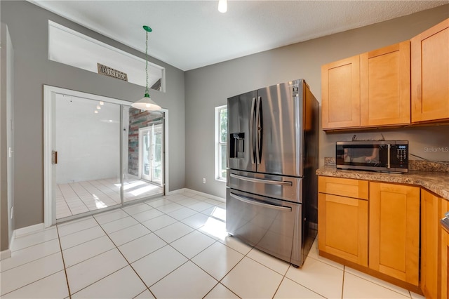
[[[162,187],[139,180],[137,177],[130,177],[123,184],[124,202],[162,193]],[[116,178],[58,184],[56,219],[115,206],[120,204],[120,201],[120,182]]]

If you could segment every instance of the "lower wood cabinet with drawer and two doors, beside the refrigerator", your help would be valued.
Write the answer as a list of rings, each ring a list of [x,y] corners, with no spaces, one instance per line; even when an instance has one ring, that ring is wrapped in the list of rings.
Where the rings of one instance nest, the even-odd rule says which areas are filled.
[[[320,176],[318,214],[320,254],[417,291],[420,187]]]

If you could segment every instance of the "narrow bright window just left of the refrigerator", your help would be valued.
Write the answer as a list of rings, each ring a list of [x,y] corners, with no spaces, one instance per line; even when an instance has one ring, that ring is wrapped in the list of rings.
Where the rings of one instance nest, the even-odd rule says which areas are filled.
[[[226,180],[227,105],[215,107],[215,179]]]

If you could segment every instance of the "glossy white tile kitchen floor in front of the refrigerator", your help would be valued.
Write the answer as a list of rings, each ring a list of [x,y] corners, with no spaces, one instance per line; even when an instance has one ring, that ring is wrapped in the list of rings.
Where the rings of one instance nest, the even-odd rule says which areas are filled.
[[[19,237],[1,298],[422,298],[317,254],[301,269],[225,232],[225,204],[174,194]]]

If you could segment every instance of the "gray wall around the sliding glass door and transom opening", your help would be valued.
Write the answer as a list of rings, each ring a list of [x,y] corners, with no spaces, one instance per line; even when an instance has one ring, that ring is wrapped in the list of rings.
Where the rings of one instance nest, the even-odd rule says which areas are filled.
[[[15,50],[15,229],[43,222],[43,84],[135,101],[145,88],[48,60],[48,20],[145,59],[119,44],[26,1],[1,1]],[[140,28],[136,28],[140,30]],[[166,93],[152,99],[169,110],[170,190],[185,187],[185,78],[166,67]]]

